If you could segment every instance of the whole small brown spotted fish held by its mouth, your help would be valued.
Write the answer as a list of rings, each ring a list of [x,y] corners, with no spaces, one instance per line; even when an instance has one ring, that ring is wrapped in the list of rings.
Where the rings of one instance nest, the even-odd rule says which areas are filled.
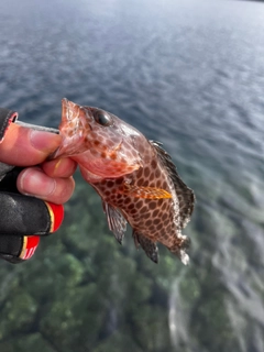
[[[110,230],[121,243],[127,222],[155,263],[156,242],[179,256],[189,256],[189,239],[182,234],[194,210],[194,191],[180,179],[161,143],[148,141],[136,129],[102,109],[81,107],[63,99],[55,157],[70,156],[84,178],[102,199]]]

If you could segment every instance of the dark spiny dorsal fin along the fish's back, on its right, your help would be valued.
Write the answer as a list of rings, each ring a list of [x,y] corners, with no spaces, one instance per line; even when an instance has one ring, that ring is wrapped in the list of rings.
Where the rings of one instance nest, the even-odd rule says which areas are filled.
[[[180,228],[183,229],[190,220],[190,216],[194,211],[195,194],[193,189],[187,187],[179,177],[170,155],[162,147],[162,143],[156,141],[150,141],[150,143],[155,147],[158,160],[166,168],[168,177],[174,184],[175,191],[179,201]]]

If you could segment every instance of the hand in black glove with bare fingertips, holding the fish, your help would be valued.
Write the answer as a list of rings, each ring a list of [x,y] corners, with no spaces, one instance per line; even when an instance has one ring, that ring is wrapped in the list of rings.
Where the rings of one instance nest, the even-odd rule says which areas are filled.
[[[73,194],[75,183],[72,175],[76,163],[69,158],[45,162],[59,143],[57,134],[15,123],[11,123],[6,132],[0,144],[0,162],[23,169],[13,168],[0,182],[0,253],[3,258],[11,262],[28,258],[21,256],[25,241],[29,248],[32,242],[28,252],[33,254],[40,241],[33,234],[48,234],[61,226],[61,205]]]

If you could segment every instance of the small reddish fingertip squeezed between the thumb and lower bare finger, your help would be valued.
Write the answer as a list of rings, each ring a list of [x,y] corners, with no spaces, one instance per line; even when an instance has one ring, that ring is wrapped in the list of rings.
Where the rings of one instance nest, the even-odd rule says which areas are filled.
[[[64,157],[42,164],[42,169],[50,177],[70,177],[77,167],[77,163],[69,157]]]

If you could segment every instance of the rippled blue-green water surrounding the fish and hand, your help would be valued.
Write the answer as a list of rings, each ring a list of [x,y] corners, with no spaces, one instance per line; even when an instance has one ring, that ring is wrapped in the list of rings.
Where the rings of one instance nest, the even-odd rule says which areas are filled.
[[[114,256],[109,260],[110,276],[114,275],[111,283],[105,283],[106,287],[113,287],[113,293],[109,288],[111,297],[106,295],[112,310],[102,319],[109,321],[109,330],[107,338],[99,334],[95,339],[89,351],[103,351],[100,343],[114,339],[118,332],[120,340],[111,343],[116,351],[122,351],[120,341],[125,341],[128,334],[131,351],[264,350],[263,18],[261,2],[1,1],[2,107],[18,109],[26,122],[51,127],[59,122],[63,97],[105,108],[150,139],[164,142],[179,174],[197,196],[193,221],[185,231],[193,239],[189,267],[182,267],[165,251],[162,251],[160,267],[148,264],[143,253],[134,253],[129,235],[124,249],[111,242],[114,255],[132,255],[134,261],[128,267],[136,267],[134,285],[138,276],[150,275],[166,293],[162,296],[163,304],[158,305],[160,292],[153,293],[154,285],[154,296],[147,296],[144,309],[141,302],[132,315],[144,320],[152,307],[157,315],[155,319],[164,319],[163,333],[158,337],[155,327],[144,330],[144,324],[140,329],[140,323],[135,323],[139,331],[143,331],[140,338],[136,328],[133,333],[133,324],[130,332],[122,331],[121,326],[129,326],[132,319],[131,310],[127,309],[125,299],[114,301],[114,289],[121,286],[131,301],[143,294],[124,288],[132,274],[122,275]],[[98,257],[92,265],[103,277],[106,263],[99,253],[110,238],[105,235],[108,230],[100,201],[79,176],[76,177],[77,190],[66,208],[67,219],[58,239],[45,241],[38,258],[26,264],[34,283],[36,276],[45,276],[52,266],[53,272],[48,273],[53,279],[57,273],[63,273],[66,283],[72,279],[67,262],[65,267],[61,262],[51,264],[56,257],[53,252],[48,256],[52,245],[54,252],[62,251],[62,257],[70,254],[70,261],[77,261],[73,262],[75,265],[80,263],[79,272],[84,271],[82,266],[89,266],[96,251],[91,244],[94,233],[101,235],[97,239]],[[96,221],[100,222],[99,230],[92,228]],[[70,234],[79,237],[80,242],[87,241],[87,248],[84,245],[87,256],[74,246]],[[36,262],[43,266],[34,276],[33,268],[40,265]],[[10,271],[13,276],[7,276]],[[4,282],[19,280],[26,286],[23,271],[25,266],[10,268],[2,264],[1,275]],[[80,282],[89,283],[87,272],[81,275]],[[144,279],[142,283],[139,279],[142,286]],[[100,283],[95,279],[95,284]],[[78,292],[78,285],[73,284],[73,290],[76,287]],[[4,293],[2,309],[7,309],[9,288]],[[36,292],[29,295],[37,305],[40,296]],[[45,297],[45,304],[53,307],[55,296]],[[98,304],[95,308],[98,315],[103,299],[90,298],[91,304]],[[76,321],[78,315],[73,311]],[[55,318],[58,315],[54,311]],[[28,316],[29,312],[24,319],[31,323],[25,331],[19,326],[13,332],[11,323],[7,323],[7,328],[2,322],[2,339],[9,343],[4,348],[14,343],[9,340],[12,333],[21,338],[41,331],[45,337],[52,318],[44,317],[46,324],[40,324],[35,315],[34,321]],[[81,324],[84,330],[95,321],[90,309],[87,316]],[[62,319],[66,324],[68,320],[72,321]],[[74,340],[79,328],[67,329]],[[156,340],[150,336],[156,336]],[[86,341],[85,333],[80,337]],[[86,338],[94,339],[89,332]],[[143,341],[148,339],[155,343],[144,345]],[[54,341],[50,341],[53,348]],[[84,341],[76,351],[87,351]],[[63,350],[66,351],[65,346]]]

